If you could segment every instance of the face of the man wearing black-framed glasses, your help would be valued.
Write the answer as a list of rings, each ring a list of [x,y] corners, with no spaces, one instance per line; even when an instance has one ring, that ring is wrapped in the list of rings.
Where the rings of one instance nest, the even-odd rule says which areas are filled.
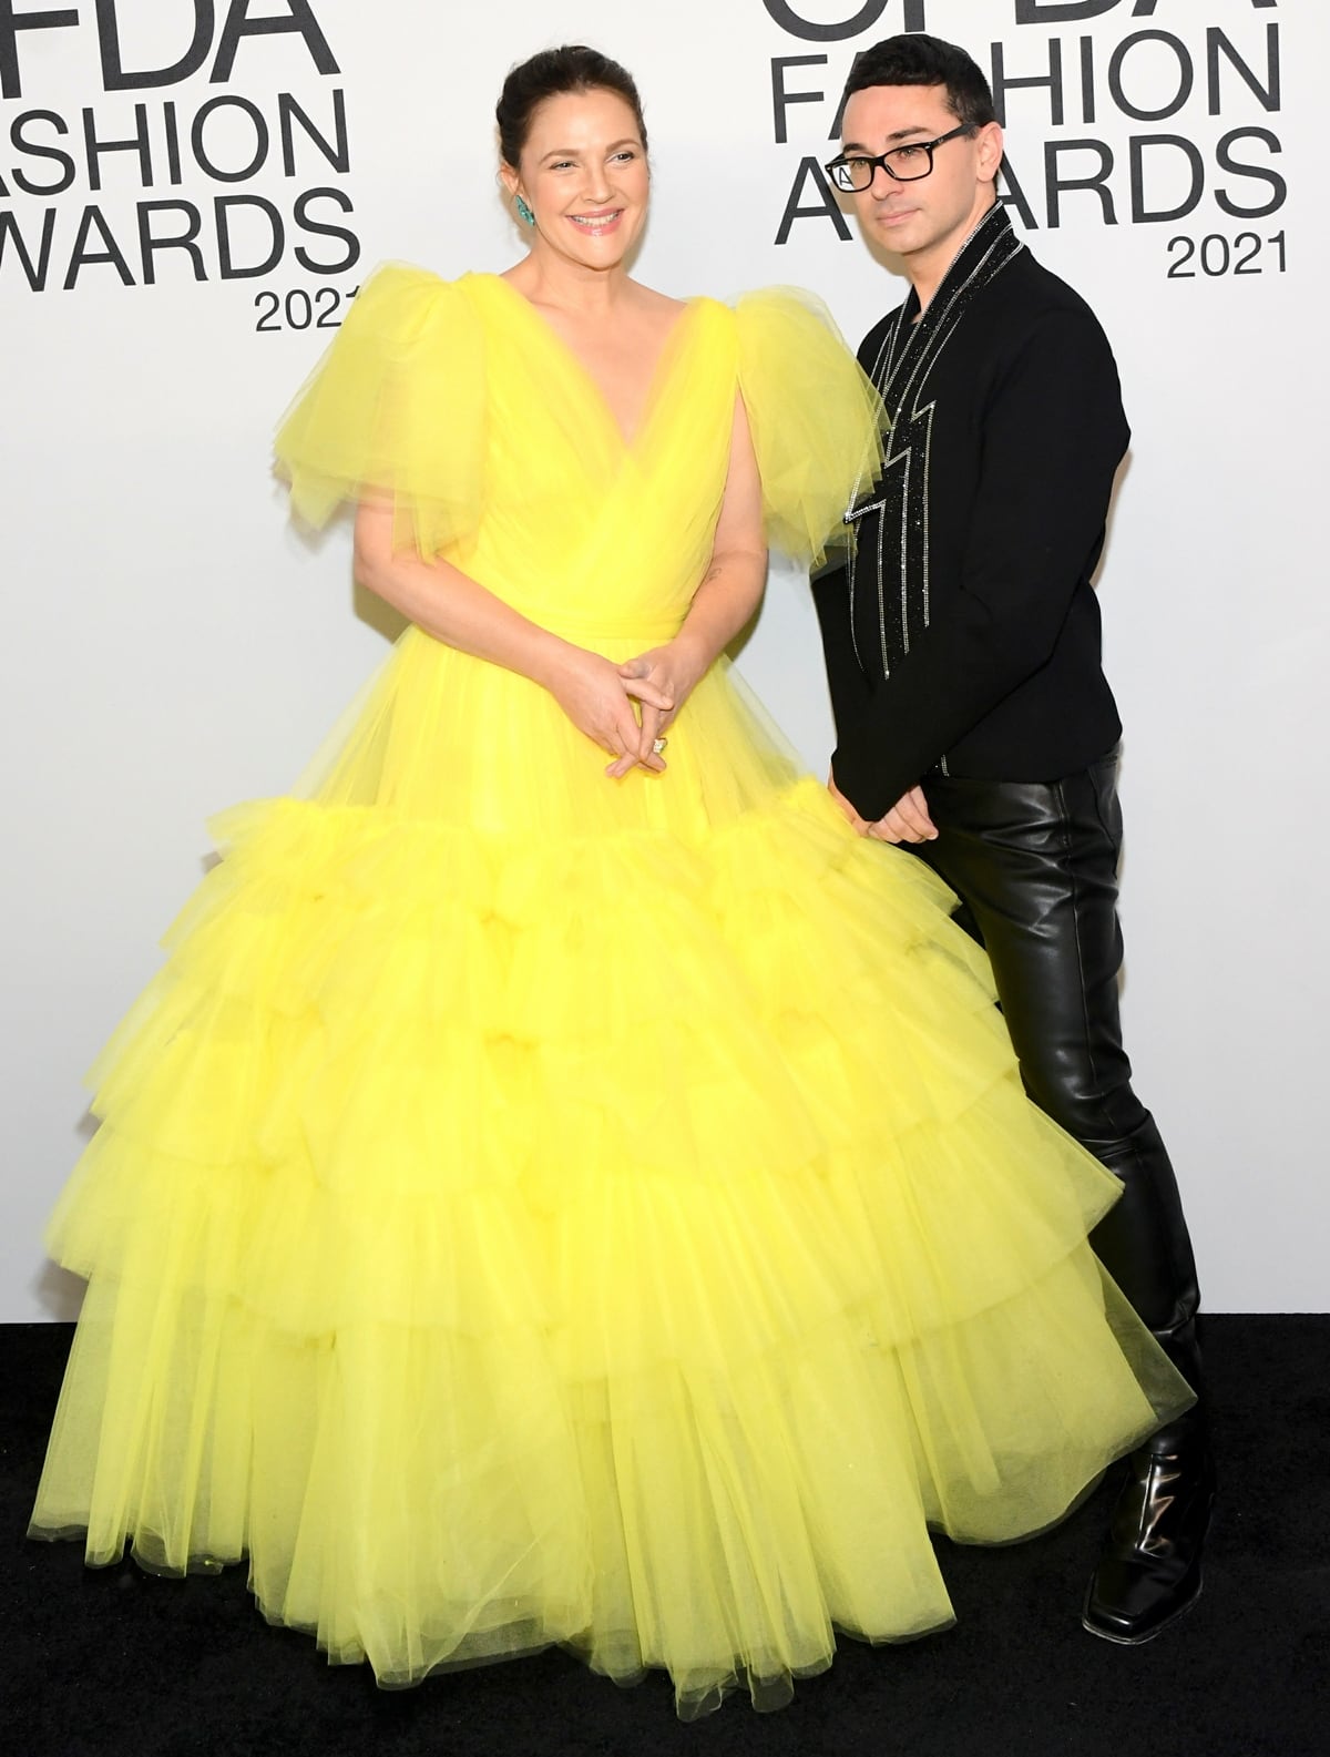
[[[868,86],[845,105],[842,151],[877,156],[896,146],[936,141],[959,127],[945,86]],[[958,135],[933,153],[933,170],[914,183],[896,183],[885,170],[854,195],[859,223],[885,249],[921,265],[943,267],[993,202],[1001,163],[1001,128],[987,123]]]

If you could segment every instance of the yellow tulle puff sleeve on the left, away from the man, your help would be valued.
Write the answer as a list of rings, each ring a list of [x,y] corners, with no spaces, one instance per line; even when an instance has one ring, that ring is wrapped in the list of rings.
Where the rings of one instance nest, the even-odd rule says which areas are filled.
[[[485,350],[474,306],[423,269],[379,269],[276,437],[295,513],[387,495],[397,538],[430,557],[476,525],[485,462]]]

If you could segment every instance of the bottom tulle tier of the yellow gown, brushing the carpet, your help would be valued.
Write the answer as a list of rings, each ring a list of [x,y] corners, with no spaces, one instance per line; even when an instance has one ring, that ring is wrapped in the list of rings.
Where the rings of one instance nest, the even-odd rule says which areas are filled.
[[[271,1622],[390,1687],[560,1643],[618,1683],[668,1669],[685,1718],[731,1688],[775,1708],[838,1630],[952,1622],[929,1523],[1038,1530],[1156,1420],[1084,1258],[900,1349],[873,1325],[847,1309],[719,1381],[569,1381],[525,1325],[297,1337],[98,1277],[56,1427],[102,1457],[93,1504],[56,1471],[33,1536],[86,1529],[91,1562],[128,1537],[165,1574],[248,1555]]]

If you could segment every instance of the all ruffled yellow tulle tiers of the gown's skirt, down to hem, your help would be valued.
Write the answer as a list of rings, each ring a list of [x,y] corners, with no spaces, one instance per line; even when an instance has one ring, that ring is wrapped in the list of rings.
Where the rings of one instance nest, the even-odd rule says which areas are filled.
[[[951,1618],[928,1523],[1037,1530],[1184,1395],[940,887],[815,784],[694,836],[220,829],[53,1225],[37,1532],[248,1553],[387,1683],[562,1641],[770,1706]]]

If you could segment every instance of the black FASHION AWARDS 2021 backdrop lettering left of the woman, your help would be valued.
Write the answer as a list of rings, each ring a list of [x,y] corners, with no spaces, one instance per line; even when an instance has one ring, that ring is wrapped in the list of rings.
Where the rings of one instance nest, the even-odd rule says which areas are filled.
[[[0,285],[316,276],[257,329],[332,327],[360,260],[337,58],[311,0],[0,0]],[[258,12],[258,16],[255,16]],[[53,107],[56,70],[98,95]],[[86,90],[86,77],[79,74]]]

